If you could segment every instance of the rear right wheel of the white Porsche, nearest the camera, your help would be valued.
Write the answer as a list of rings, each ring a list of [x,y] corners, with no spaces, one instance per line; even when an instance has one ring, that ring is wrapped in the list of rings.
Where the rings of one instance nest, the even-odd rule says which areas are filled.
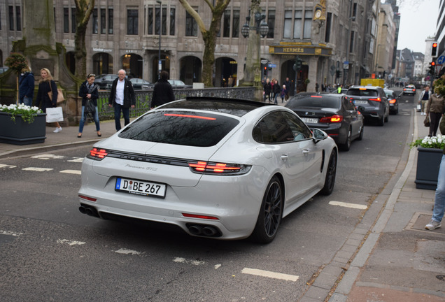
[[[257,243],[271,243],[274,240],[283,216],[284,192],[278,177],[274,176],[262,198],[260,213],[255,229],[250,236]]]

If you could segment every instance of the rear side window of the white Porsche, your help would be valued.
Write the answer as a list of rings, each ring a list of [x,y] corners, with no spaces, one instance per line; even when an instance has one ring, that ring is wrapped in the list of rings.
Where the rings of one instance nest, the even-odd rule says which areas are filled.
[[[288,122],[279,111],[262,117],[253,129],[253,139],[258,143],[286,143],[294,141]]]

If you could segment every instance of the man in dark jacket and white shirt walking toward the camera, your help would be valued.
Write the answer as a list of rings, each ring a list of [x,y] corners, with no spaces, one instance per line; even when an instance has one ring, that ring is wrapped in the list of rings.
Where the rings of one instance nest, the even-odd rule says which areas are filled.
[[[136,96],[134,96],[132,82],[130,82],[125,75],[125,70],[120,69],[120,71],[118,71],[118,78],[113,81],[110,97],[108,98],[108,106],[114,106],[116,131],[119,131],[121,128],[120,112],[122,111],[125,126],[127,126],[127,124],[129,124],[129,108],[134,108],[136,105]]]

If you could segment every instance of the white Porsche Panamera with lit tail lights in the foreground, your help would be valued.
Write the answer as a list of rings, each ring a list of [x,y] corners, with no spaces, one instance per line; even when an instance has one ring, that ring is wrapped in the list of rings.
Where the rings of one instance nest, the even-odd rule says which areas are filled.
[[[337,152],[332,138],[288,108],[173,101],[93,146],[82,164],[79,210],[269,243],[283,217],[332,192]]]

